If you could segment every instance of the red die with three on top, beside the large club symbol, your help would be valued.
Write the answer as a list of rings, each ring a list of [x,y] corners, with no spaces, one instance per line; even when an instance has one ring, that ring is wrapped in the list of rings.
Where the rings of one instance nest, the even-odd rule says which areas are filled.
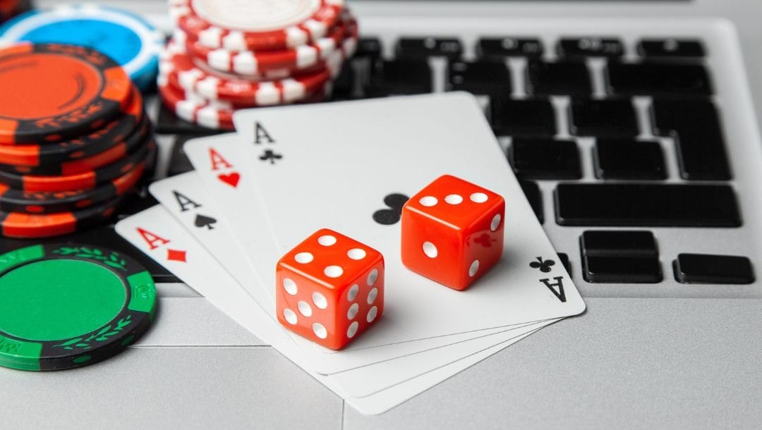
[[[498,194],[444,175],[402,208],[402,263],[463,290],[503,254],[505,201]]]

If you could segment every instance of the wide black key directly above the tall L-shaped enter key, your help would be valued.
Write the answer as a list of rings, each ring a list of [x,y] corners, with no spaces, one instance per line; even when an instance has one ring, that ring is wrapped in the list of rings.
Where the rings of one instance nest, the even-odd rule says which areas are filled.
[[[709,95],[712,83],[703,65],[609,62],[607,82],[611,94]]]

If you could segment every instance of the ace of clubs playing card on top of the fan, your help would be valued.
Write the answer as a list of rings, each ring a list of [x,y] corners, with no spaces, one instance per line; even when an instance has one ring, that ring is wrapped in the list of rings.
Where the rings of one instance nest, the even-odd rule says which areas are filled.
[[[348,350],[584,311],[473,97],[245,110],[235,122],[257,184],[252,195],[261,196],[277,248],[255,262],[266,283],[274,282],[267,268],[319,228],[340,231],[385,256],[385,316]],[[411,196],[442,174],[484,186],[507,202],[503,259],[468,291],[410,272],[399,256],[404,199],[396,197]],[[301,344],[321,373],[347,365],[338,365],[334,352]]]

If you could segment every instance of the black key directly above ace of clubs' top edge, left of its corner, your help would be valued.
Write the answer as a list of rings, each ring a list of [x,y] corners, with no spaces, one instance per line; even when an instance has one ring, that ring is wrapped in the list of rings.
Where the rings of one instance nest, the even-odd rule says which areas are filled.
[[[434,91],[431,67],[421,61],[379,61],[370,74],[366,94],[380,97],[395,94],[424,94]]]

